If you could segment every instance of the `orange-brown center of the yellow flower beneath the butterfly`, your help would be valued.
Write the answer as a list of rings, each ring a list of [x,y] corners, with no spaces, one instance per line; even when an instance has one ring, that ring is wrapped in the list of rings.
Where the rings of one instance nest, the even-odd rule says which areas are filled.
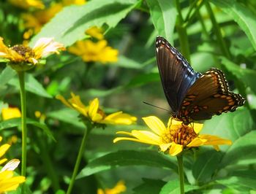
[[[197,137],[192,127],[188,125],[172,125],[167,133],[162,135],[162,141],[166,143],[175,142],[184,147]]]

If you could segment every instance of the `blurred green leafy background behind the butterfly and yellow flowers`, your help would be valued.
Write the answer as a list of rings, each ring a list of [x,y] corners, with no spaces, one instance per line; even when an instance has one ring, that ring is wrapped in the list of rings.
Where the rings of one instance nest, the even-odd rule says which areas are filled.
[[[43,1],[50,7],[50,1]],[[56,1],[57,2],[57,1]],[[58,1],[60,2],[60,1]],[[68,51],[50,56],[26,77],[29,121],[28,177],[32,193],[67,189],[84,126],[78,113],[54,96],[80,95],[85,104],[99,98],[107,112],[122,110],[138,117],[138,125],[108,125],[94,129],[86,144],[74,193],[96,193],[124,179],[126,193],[177,193],[176,158],[157,153],[156,147],[124,141],[113,144],[116,131],[145,128],[140,117],[157,115],[167,121],[169,109],[159,82],[154,39],[165,36],[196,71],[217,67],[230,88],[246,98],[236,112],[214,116],[203,133],[230,139],[220,152],[199,148],[185,158],[187,193],[250,193],[256,190],[256,1],[235,0],[91,0],[61,9],[32,37],[54,37],[66,47],[84,38],[85,31],[102,27],[105,39],[118,49],[116,63],[84,62]],[[6,44],[20,44],[27,31],[21,9],[0,1],[0,36]],[[18,77],[1,62],[1,106],[20,106]],[[46,115],[39,123],[34,112]],[[0,123],[1,136],[18,136],[8,158],[20,158],[19,120]]]

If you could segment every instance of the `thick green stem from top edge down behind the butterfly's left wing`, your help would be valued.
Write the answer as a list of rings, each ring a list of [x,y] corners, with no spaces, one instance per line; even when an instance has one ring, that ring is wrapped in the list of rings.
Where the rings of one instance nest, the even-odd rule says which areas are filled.
[[[190,62],[189,39],[187,36],[187,30],[184,27],[184,20],[181,15],[181,7],[178,0],[176,0],[176,9],[178,11],[176,30],[178,32],[178,40],[181,45],[181,53],[184,55],[184,58]]]

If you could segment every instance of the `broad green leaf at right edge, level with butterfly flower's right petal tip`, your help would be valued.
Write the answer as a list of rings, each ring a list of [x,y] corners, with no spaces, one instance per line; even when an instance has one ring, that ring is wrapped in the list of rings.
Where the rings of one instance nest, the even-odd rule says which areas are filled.
[[[225,167],[235,164],[254,164],[256,163],[256,131],[250,131],[244,136],[233,141],[233,144],[222,158],[220,166]]]

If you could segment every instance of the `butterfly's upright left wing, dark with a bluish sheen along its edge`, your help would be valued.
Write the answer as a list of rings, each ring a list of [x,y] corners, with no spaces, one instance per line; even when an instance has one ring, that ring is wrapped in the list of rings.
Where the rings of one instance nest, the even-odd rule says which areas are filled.
[[[195,72],[187,60],[166,39],[156,39],[157,66],[167,102],[177,113],[187,90],[201,74]]]

